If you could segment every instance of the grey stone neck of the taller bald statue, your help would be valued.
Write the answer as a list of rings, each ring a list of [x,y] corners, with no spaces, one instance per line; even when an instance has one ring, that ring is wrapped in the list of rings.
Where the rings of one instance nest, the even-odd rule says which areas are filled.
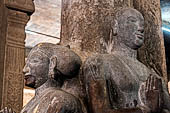
[[[125,56],[125,57],[137,59],[137,50],[131,49],[124,44],[116,45],[114,47],[114,51],[112,53],[113,54],[117,53],[117,54],[120,54],[120,55]]]

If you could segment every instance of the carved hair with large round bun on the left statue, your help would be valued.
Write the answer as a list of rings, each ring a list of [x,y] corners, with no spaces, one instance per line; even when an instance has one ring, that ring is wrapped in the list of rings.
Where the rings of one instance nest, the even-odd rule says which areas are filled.
[[[80,57],[67,47],[63,47],[51,43],[40,43],[36,45],[30,52],[39,52],[44,57],[50,59],[57,57],[56,71],[64,75],[66,78],[75,77],[80,69],[82,61]]]

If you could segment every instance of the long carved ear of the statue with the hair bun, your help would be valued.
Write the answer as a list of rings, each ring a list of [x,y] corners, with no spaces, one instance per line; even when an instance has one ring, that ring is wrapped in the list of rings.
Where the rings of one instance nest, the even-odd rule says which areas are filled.
[[[55,77],[55,69],[57,69],[57,56],[52,56],[50,58],[50,64],[49,64],[49,72],[48,72],[49,78]]]

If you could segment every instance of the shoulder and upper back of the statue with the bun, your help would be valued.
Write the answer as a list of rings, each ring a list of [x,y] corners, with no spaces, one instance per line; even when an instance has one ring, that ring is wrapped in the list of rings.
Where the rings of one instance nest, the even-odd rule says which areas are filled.
[[[35,96],[21,113],[82,113],[79,100],[73,95],[57,88],[45,89]]]

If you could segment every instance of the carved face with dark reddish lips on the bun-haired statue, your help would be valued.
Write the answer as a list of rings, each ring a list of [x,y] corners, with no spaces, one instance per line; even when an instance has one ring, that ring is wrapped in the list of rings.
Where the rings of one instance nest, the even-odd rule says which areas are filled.
[[[39,51],[29,54],[23,72],[25,85],[37,88],[48,79],[49,59]]]

